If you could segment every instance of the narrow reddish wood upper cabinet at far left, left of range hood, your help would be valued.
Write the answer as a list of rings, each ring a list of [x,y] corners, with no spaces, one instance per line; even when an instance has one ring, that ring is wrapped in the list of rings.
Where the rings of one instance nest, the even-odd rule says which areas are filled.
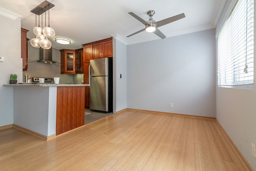
[[[29,30],[21,28],[21,58],[22,58],[22,70],[28,70],[28,41],[29,39],[26,38],[26,33]]]

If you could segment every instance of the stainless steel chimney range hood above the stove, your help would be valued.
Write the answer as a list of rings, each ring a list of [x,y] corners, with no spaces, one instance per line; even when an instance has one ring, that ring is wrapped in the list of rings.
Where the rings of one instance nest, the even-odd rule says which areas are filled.
[[[32,61],[35,62],[35,61]],[[43,48],[39,48],[39,61],[37,62],[41,62],[41,63],[45,63],[45,64],[55,64],[58,63],[56,61],[52,60],[52,47],[50,49],[43,49]],[[58,63],[60,64],[60,63]]]

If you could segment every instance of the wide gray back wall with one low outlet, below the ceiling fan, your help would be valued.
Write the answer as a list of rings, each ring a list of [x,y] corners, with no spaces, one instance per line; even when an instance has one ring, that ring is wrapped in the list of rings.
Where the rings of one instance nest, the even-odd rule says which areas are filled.
[[[127,66],[129,108],[215,117],[215,29],[128,45]]]

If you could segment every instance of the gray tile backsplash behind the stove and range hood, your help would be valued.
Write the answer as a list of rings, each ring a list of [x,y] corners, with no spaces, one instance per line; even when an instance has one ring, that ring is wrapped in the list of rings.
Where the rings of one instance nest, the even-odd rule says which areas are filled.
[[[25,73],[32,75],[32,77],[39,78],[53,78],[60,77],[60,84],[75,83],[81,84],[83,74],[60,74],[60,64],[44,64],[36,62],[39,60],[39,48],[33,47],[30,42],[28,43],[28,70],[23,71],[23,82]],[[52,60],[61,61],[60,51],[52,49]]]

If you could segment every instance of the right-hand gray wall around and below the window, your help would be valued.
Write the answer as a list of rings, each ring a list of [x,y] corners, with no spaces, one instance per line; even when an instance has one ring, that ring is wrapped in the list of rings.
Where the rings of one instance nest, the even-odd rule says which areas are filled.
[[[222,21],[226,18],[232,8],[233,0],[227,0],[224,11],[216,27],[216,32],[221,28]],[[254,9],[256,4],[254,4]],[[255,22],[255,17],[254,17]],[[256,29],[254,25],[254,30]],[[254,54],[256,38],[254,35]],[[217,59],[217,55],[216,55]],[[254,57],[254,61],[256,61]],[[217,75],[216,75],[217,80]],[[256,62],[254,62],[254,82],[256,80]],[[254,85],[255,86],[255,85]],[[217,110],[216,118],[221,126],[226,130],[230,138],[239,148],[245,159],[256,171],[256,159],[251,154],[251,143],[256,145],[256,90],[216,88]]]

